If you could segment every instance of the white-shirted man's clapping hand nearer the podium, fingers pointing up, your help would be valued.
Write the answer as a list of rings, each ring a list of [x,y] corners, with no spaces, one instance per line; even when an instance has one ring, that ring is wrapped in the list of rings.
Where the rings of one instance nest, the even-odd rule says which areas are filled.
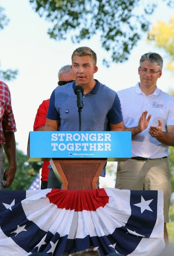
[[[129,128],[124,127],[124,131],[132,132],[132,137],[134,137],[137,134],[143,132],[147,128],[150,118],[151,118],[151,115],[148,115],[148,117],[147,117],[147,111],[144,111],[142,113],[142,115],[140,116],[138,126],[129,127]]]

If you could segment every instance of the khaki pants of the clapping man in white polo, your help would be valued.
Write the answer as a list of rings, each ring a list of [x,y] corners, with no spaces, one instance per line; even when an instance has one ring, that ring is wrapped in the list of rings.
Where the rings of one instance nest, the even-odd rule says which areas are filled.
[[[128,159],[118,162],[116,188],[130,190],[163,190],[164,222],[169,222],[171,181],[168,158],[148,161]]]

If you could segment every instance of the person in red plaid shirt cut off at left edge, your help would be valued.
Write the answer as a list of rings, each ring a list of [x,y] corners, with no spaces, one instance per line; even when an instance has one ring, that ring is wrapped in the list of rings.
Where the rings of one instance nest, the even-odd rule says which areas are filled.
[[[0,81],[0,190],[9,187],[16,173],[16,124],[11,106],[10,91],[6,83]],[[4,172],[6,153],[9,166]]]

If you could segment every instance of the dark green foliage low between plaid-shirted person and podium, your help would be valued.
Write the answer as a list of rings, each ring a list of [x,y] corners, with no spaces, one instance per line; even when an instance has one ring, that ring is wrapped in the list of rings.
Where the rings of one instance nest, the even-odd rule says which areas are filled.
[[[27,156],[16,149],[17,171],[10,190],[26,190],[29,188],[35,177],[37,176],[41,167],[41,162],[27,162]],[[6,159],[5,169],[8,167]]]

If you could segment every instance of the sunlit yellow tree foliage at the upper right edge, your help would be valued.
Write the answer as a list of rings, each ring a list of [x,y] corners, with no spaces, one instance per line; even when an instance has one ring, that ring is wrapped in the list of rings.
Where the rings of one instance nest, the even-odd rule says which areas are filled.
[[[159,20],[149,31],[148,39],[155,42],[155,45],[163,49],[169,58],[167,68],[174,71],[174,17],[169,24]]]

